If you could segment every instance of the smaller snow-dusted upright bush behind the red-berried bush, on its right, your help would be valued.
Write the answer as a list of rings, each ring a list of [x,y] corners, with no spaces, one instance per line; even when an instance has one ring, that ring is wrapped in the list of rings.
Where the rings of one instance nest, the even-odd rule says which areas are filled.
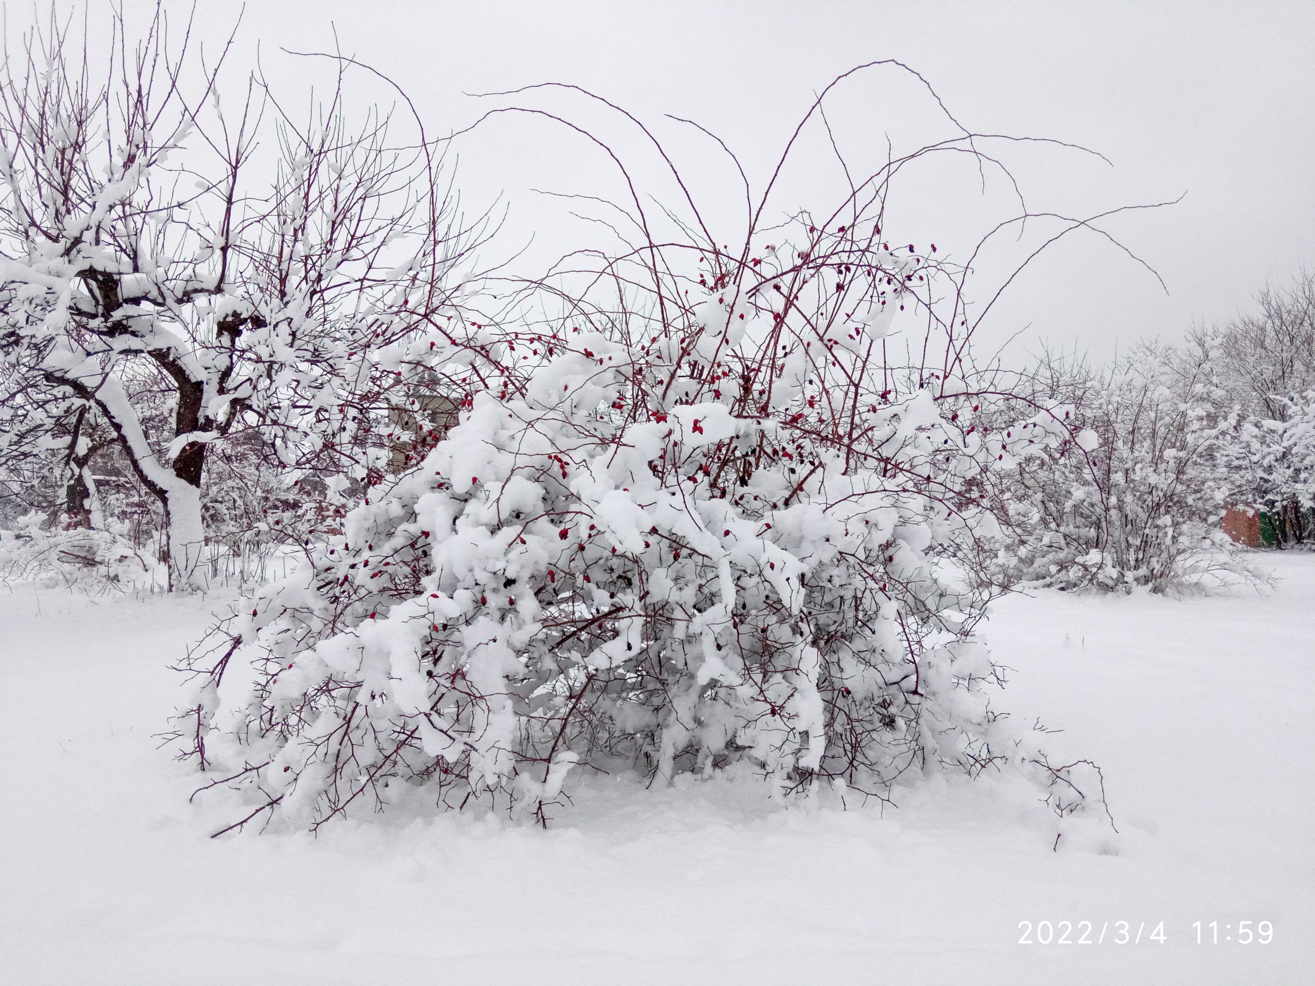
[[[1093,371],[1044,358],[1034,401],[1063,401],[1074,435],[1024,461],[1005,506],[1011,580],[1166,592],[1251,577],[1223,534],[1216,456],[1235,418],[1206,359],[1144,343]]]

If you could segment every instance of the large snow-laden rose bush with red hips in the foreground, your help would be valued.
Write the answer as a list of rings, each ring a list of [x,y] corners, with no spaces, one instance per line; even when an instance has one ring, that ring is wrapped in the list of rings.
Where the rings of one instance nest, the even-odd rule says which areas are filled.
[[[735,250],[659,238],[636,196],[642,248],[525,287],[560,317],[467,325],[460,425],[187,660],[179,736],[249,798],[230,827],[472,798],[543,820],[571,772],[617,769],[886,797],[1011,766],[1098,802],[993,710],[974,636],[988,490],[1068,430],[974,423],[960,272],[884,241],[902,163]]]

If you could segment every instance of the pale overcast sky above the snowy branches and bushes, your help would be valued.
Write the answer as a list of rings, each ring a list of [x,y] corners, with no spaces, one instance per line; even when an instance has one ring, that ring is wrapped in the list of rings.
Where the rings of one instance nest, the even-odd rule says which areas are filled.
[[[130,4],[130,12],[145,4]],[[167,4],[184,14],[189,4]],[[95,8],[93,8],[95,9]],[[233,3],[199,7],[216,37]],[[11,18],[16,11],[11,7]],[[11,29],[12,29],[11,20]],[[1022,330],[1028,347],[1086,348],[1173,338],[1194,321],[1245,308],[1266,281],[1315,266],[1315,4],[1311,3],[377,3],[267,0],[246,8],[239,58],[259,42],[285,91],[314,78],[279,49],[327,50],[389,72],[434,131],[467,126],[508,105],[464,93],[542,82],[584,85],[654,124],[672,141],[697,193],[734,233],[743,193],[707,142],[671,113],[719,134],[761,188],[814,93],[838,74],[899,59],[935,87],[970,130],[1051,137],[1101,151],[1112,167],[1036,145],[999,149],[1034,210],[1093,214],[1185,196],[1107,229],[1164,279],[1095,237],[1053,248],[1010,289],[988,340]],[[363,96],[373,91],[362,80]],[[600,128],[644,171],[623,129],[565,95],[523,97]],[[911,149],[952,128],[898,72],[869,72],[836,93],[831,124],[857,168],[885,141]],[[777,205],[832,201],[839,175],[814,131]],[[468,206],[502,195],[508,233],[537,250],[596,235],[562,221],[531,188],[615,193],[615,176],[579,137],[502,118],[460,138],[458,184]],[[659,196],[671,189],[654,185]],[[932,166],[897,188],[902,242],[935,241],[963,255],[984,223],[1011,208],[1001,183],[982,196],[976,171]],[[725,206],[725,208],[721,208]],[[556,212],[554,212],[556,209]],[[890,223],[888,223],[889,226]],[[1007,251],[1006,251],[1007,254]],[[1003,271],[986,267],[978,291]]]

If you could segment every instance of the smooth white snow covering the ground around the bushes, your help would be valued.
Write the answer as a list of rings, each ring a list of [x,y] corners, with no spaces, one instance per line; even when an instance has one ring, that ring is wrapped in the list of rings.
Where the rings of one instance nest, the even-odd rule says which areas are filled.
[[[1053,816],[1002,782],[927,786],[882,816],[609,781],[547,832],[385,819],[210,840],[195,776],[151,739],[206,605],[0,590],[0,978],[1312,982],[1315,555],[1266,561],[1266,597],[998,607],[988,636],[1015,669],[998,705],[1101,763],[1119,827],[1055,852]],[[1034,941],[1039,922],[1105,937],[1020,945],[1024,920]],[[1245,920],[1273,941],[1239,944]]]

